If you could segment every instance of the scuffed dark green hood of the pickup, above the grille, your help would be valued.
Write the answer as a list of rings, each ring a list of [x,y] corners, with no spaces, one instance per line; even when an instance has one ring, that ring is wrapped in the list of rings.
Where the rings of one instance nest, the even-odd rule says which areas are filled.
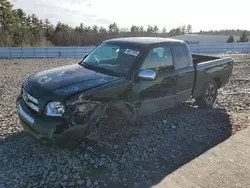
[[[24,88],[35,97],[51,91],[58,95],[68,95],[118,79],[73,64],[34,74],[24,83]]]

